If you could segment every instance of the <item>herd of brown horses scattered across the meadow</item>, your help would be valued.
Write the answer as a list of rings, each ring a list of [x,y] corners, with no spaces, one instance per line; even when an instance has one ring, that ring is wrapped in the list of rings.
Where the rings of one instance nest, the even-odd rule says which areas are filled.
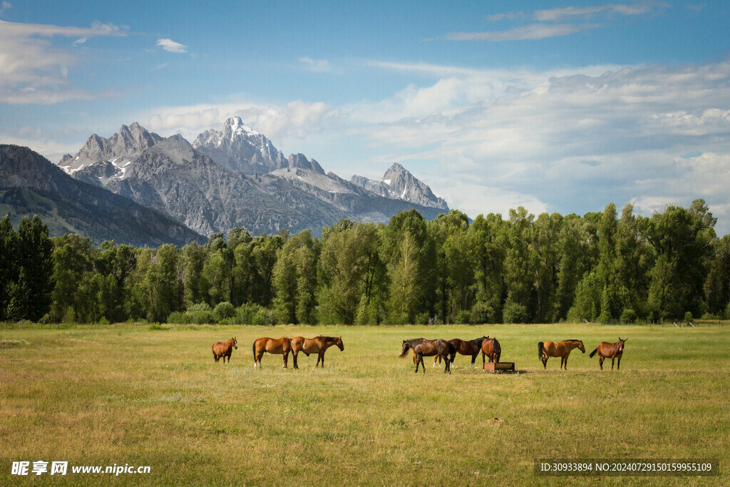
[[[611,359],[611,369],[616,359],[618,359],[618,365],[616,369],[621,368],[621,356],[623,355],[623,344],[628,339],[621,340],[618,337],[618,342],[609,343],[601,342],[599,345],[590,353],[589,357],[593,358],[596,353],[599,356],[599,365],[603,370],[603,361],[606,358]],[[291,352],[294,361],[294,368],[299,369],[297,364],[297,357],[299,352],[304,352],[304,355],[310,356],[310,353],[317,353],[317,364],[322,364],[324,367],[324,353],[332,345],[336,345],[339,350],[345,350],[345,345],[342,344],[342,337],[315,337],[315,338],[304,338],[294,337],[287,338],[282,337],[279,339],[263,337],[253,342],[253,367],[261,368],[261,358],[265,352],[274,353],[284,356],[284,368],[287,368],[287,362],[289,353]],[[231,352],[233,349],[238,350],[238,342],[236,337],[231,338],[227,342],[215,342],[213,344],[213,358],[215,361],[219,361],[223,358],[223,363],[226,363],[226,357],[228,363],[231,362]],[[542,361],[542,367],[548,368],[548,358],[560,357],[560,368],[568,369],[568,356],[570,352],[577,348],[581,352],[585,353],[585,347],[583,346],[582,340],[564,340],[562,342],[538,342],[537,344],[537,356]],[[423,357],[434,357],[434,367],[436,362],[439,363],[443,360],[445,362],[444,373],[451,373],[451,364],[453,364],[456,353],[460,355],[466,355],[472,357],[472,367],[477,360],[479,353],[482,353],[482,364],[486,364],[486,359],[489,358],[490,362],[499,362],[499,358],[502,356],[502,347],[496,338],[480,337],[475,340],[460,340],[455,338],[453,340],[426,340],[425,338],[412,338],[411,340],[403,340],[403,346],[401,349],[400,357],[407,356],[408,350],[413,352],[413,363],[415,364],[415,372],[418,373],[418,368],[423,367],[423,372],[426,372],[426,366],[423,365]]]

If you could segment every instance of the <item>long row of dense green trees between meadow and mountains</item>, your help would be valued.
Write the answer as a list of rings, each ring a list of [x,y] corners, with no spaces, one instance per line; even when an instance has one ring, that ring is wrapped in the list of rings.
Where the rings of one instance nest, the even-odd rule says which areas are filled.
[[[523,207],[342,220],[321,236],[134,248],[0,222],[0,321],[545,323],[730,318],[730,236],[704,200],[650,217]]]

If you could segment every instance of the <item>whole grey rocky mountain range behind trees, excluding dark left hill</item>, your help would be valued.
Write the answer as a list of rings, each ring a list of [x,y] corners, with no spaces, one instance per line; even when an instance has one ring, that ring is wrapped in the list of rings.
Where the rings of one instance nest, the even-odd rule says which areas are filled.
[[[221,131],[204,131],[192,145],[179,135],[159,137],[138,123],[122,126],[105,140],[93,135],[77,156],[64,156],[59,165],[78,180],[163,212],[204,235],[234,227],[253,234],[280,229],[318,233],[340,218],[386,222],[400,210],[415,208],[432,219],[447,210],[445,202],[439,205],[443,200],[401,166],[394,187],[404,181],[409,189],[401,191],[406,197],[393,199],[387,191],[374,193],[326,173],[304,154],[285,158],[239,117],[226,120]],[[129,140],[139,142],[123,143]]]

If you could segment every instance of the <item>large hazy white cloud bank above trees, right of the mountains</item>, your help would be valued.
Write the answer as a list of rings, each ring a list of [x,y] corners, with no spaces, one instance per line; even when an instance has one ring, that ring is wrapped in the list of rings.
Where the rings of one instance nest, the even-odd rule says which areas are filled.
[[[702,197],[720,218],[718,233],[730,232],[730,61],[513,72],[512,79],[450,66],[380,66],[443,77],[347,107],[350,133],[379,147],[383,161],[435,164],[426,183],[452,207],[504,214],[496,206],[503,198],[532,212],[580,213],[608,202],[686,205]],[[688,153],[702,156],[680,157]]]

